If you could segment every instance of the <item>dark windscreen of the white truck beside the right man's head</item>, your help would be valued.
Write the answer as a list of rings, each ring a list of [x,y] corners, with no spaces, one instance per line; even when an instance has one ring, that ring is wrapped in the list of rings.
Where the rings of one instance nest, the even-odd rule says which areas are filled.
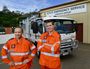
[[[56,31],[59,33],[72,33],[75,31],[73,20],[53,20]]]

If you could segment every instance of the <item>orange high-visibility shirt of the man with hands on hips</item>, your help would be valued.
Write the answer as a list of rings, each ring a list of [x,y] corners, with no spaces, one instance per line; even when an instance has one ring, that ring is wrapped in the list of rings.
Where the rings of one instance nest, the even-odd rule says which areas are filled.
[[[36,53],[36,47],[32,42],[22,37],[19,41],[16,38],[12,38],[3,46],[1,54],[2,61],[9,64],[11,61],[15,65],[23,65],[26,59],[32,61]],[[8,54],[10,57],[8,58]]]

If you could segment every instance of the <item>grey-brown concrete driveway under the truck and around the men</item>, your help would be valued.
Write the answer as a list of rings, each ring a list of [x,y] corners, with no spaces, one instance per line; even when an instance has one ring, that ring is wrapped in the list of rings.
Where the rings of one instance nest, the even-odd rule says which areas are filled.
[[[0,48],[2,45],[0,46]],[[79,44],[78,51],[74,55],[61,57],[62,69],[89,69],[90,68],[90,45]],[[0,68],[9,69],[4,63],[0,64]],[[34,59],[31,69],[40,69],[37,56]]]

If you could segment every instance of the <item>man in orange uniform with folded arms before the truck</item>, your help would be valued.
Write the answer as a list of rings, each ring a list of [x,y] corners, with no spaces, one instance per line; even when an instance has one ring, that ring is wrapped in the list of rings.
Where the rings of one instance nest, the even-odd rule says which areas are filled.
[[[60,62],[60,34],[55,31],[54,23],[45,23],[46,32],[38,40],[40,51],[39,64],[41,69],[61,69]]]

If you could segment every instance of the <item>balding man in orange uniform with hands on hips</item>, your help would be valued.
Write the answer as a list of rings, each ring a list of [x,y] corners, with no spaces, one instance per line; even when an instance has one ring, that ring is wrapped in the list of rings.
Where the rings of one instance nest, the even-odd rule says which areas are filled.
[[[35,56],[36,47],[31,41],[24,38],[22,33],[22,28],[16,27],[15,38],[8,40],[2,48],[2,61],[9,64],[10,69],[30,69]]]

